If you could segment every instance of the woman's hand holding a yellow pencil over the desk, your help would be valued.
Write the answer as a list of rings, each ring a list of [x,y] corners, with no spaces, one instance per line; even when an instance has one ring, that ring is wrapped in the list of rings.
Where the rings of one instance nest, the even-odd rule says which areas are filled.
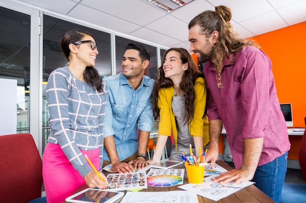
[[[89,172],[86,176],[84,176],[84,179],[85,179],[86,184],[88,185],[88,187],[90,187],[90,188],[98,187],[100,189],[107,188],[108,182],[104,181],[104,180],[107,180],[105,175],[103,173],[99,173],[97,171],[97,169],[93,166],[93,164],[91,163],[91,161],[89,160],[89,158],[87,157],[86,154],[84,154],[84,156],[87,159],[87,162],[89,163],[89,165],[93,169],[93,171]],[[101,181],[97,180],[96,176],[98,176],[99,180],[102,181],[102,184],[101,184]]]

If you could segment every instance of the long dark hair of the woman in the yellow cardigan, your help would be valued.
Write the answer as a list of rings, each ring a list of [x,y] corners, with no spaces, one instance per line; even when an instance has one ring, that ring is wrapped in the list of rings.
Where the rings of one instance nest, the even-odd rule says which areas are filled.
[[[188,63],[188,69],[184,71],[184,74],[182,76],[182,81],[180,83],[180,89],[184,91],[185,112],[186,112],[185,124],[187,124],[192,121],[194,117],[194,113],[195,113],[196,95],[194,91],[194,86],[195,86],[196,80],[198,77],[204,78],[204,75],[203,73],[199,72],[195,61],[193,60],[191,55],[188,53],[188,51],[183,48],[168,49],[163,56],[162,65],[155,71],[155,84],[153,86],[153,91],[152,91],[153,115],[154,115],[155,120],[159,116],[159,108],[157,106],[158,91],[161,88],[169,88],[169,87],[174,86],[172,80],[165,77],[165,72],[163,70],[163,63],[165,62],[166,55],[171,51],[175,51],[179,53],[182,64]],[[206,88],[206,84],[204,85]],[[206,99],[206,104],[207,104],[207,99]],[[205,106],[205,112],[203,112],[203,117],[206,115],[206,113],[207,113],[207,105]]]

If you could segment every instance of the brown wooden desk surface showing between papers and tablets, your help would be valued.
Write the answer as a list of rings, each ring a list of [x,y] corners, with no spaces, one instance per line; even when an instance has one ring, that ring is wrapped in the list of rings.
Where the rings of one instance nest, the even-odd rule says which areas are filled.
[[[232,170],[230,166],[228,166],[223,161],[217,161],[217,164],[224,167],[226,170]],[[184,165],[177,166],[175,168],[185,168]],[[107,176],[108,172],[105,172],[105,175]],[[184,175],[184,183],[188,184],[188,177],[185,170]],[[153,192],[153,191],[172,191],[172,190],[182,190],[180,188],[177,188],[179,185],[171,186],[171,187],[154,187],[148,185],[147,189],[142,189],[143,192]],[[87,185],[82,185],[75,193],[87,188]],[[126,192],[126,191],[123,191]],[[202,196],[197,196],[199,203],[275,203],[271,198],[269,198],[266,194],[264,194],[260,189],[258,189],[254,185],[247,186],[245,188],[242,188],[238,192],[235,192],[234,194],[231,194],[230,196],[227,196],[226,198],[223,198],[219,201],[213,201],[207,198],[204,198]],[[121,202],[121,199],[116,201],[116,203]],[[66,202],[64,202],[66,203]]]

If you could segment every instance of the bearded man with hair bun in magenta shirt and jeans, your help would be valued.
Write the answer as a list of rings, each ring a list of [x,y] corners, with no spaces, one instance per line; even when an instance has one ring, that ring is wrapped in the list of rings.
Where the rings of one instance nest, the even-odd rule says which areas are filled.
[[[290,149],[269,57],[252,40],[241,38],[230,23],[231,9],[216,6],[189,25],[190,51],[200,63],[211,98],[210,144],[206,161],[214,167],[222,124],[235,164],[215,182],[254,181],[275,202],[281,199]]]

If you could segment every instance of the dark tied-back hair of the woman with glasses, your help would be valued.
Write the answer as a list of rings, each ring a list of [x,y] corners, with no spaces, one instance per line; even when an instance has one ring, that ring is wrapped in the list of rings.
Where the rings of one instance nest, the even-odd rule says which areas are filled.
[[[63,35],[61,39],[61,48],[68,61],[69,61],[69,55],[70,55],[69,44],[73,44],[77,41],[81,41],[82,38],[85,37],[86,35],[93,38],[93,36],[89,32],[87,32],[86,30],[82,30],[82,29],[69,30]],[[97,71],[97,69],[95,69],[94,67],[88,66],[86,67],[83,74],[85,77],[85,81],[89,85],[93,85],[94,88],[98,92],[103,91],[102,77]]]

